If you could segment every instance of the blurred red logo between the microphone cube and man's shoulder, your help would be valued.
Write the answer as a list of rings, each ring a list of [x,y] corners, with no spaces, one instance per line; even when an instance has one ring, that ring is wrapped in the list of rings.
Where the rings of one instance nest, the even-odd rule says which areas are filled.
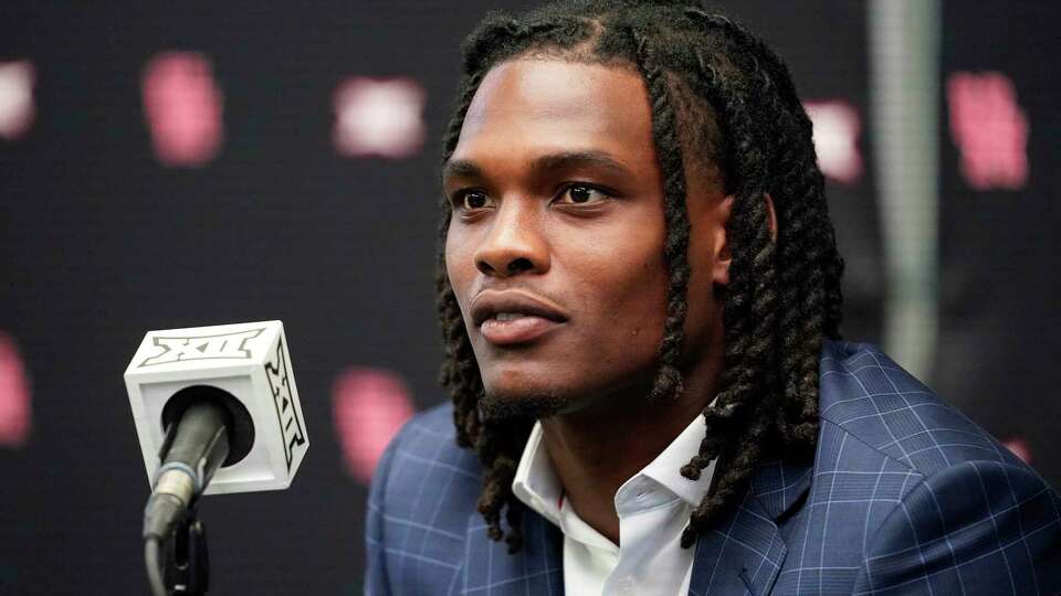
[[[392,372],[351,368],[332,389],[332,414],[347,471],[368,482],[387,444],[413,414],[402,380]]]

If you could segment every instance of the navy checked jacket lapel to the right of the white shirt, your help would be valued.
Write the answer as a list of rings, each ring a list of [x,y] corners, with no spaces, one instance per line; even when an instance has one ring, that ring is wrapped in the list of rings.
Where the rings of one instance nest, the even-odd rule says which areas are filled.
[[[810,488],[810,462],[760,466],[738,507],[696,542],[689,593],[769,594],[788,549],[778,520]]]

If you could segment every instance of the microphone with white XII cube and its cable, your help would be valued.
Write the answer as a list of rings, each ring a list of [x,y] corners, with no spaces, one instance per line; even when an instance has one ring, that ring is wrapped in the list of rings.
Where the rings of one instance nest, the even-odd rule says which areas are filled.
[[[149,331],[125,384],[151,487],[149,575],[199,497],[286,489],[309,446],[281,321]]]

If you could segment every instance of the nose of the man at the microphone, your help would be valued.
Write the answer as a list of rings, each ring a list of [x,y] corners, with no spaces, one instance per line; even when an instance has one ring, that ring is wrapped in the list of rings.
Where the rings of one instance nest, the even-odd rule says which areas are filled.
[[[533,200],[502,201],[491,222],[490,234],[475,251],[475,267],[484,275],[511,277],[543,274],[549,268],[548,243],[542,235],[544,214]]]

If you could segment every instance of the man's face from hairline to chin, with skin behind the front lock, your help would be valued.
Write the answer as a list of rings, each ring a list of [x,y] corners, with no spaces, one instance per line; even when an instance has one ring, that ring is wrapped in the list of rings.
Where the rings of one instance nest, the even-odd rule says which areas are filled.
[[[447,270],[491,403],[574,411],[650,386],[666,313],[665,227],[637,73],[550,60],[494,67],[443,187]],[[694,355],[721,327],[712,284],[725,283],[728,205],[700,187],[691,181],[689,199]]]

